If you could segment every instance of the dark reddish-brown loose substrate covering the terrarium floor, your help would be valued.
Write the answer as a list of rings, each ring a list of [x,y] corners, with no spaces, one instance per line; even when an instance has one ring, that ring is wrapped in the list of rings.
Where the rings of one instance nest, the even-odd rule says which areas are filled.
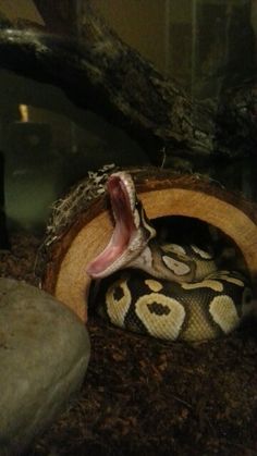
[[[40,239],[12,237],[1,275],[37,283]],[[211,343],[161,343],[89,320],[91,358],[76,402],[29,456],[257,454],[257,329]]]

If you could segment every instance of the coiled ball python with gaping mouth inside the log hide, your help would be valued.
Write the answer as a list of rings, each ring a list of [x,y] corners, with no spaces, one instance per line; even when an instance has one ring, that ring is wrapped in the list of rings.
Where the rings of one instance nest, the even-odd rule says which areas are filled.
[[[252,310],[248,280],[217,269],[212,255],[196,245],[160,244],[131,174],[111,174],[107,192],[113,234],[87,267],[100,280],[98,312],[114,325],[168,341],[234,330]]]

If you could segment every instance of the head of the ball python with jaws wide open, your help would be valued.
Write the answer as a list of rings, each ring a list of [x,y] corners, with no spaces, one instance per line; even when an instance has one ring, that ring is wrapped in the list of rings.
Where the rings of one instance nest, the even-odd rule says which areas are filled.
[[[111,201],[114,230],[105,250],[87,266],[87,273],[93,279],[102,279],[128,267],[156,236],[156,231],[136,196],[131,174],[111,174],[107,192]]]

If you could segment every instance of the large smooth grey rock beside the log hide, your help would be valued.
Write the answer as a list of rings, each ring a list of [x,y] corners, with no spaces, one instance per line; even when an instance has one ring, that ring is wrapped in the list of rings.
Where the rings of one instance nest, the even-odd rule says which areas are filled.
[[[89,358],[81,320],[47,293],[0,279],[0,455],[24,452],[79,390]]]

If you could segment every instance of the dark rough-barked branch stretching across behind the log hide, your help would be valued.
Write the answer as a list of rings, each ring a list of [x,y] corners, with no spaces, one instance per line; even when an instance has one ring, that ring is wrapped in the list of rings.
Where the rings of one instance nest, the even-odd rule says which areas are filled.
[[[89,5],[81,19],[79,36],[48,32],[4,22],[1,66],[61,87],[77,106],[125,130],[152,163],[160,163],[163,149],[167,157],[195,159],[252,155],[257,143],[255,82],[244,95],[240,89],[242,99],[234,102],[234,93],[219,103],[192,100],[122,42]]]

